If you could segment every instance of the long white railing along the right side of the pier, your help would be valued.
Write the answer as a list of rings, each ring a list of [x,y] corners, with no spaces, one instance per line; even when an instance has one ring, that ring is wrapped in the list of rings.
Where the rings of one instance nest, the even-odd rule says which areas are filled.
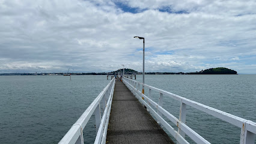
[[[230,124],[236,125],[241,128],[240,134],[240,144],[254,144],[255,133],[256,133],[256,123],[239,118],[238,116],[231,115],[230,113],[222,112],[221,110],[214,109],[213,107],[206,106],[201,103],[189,100],[184,97],[172,94],[171,92],[163,91],[162,89],[154,88],[153,86],[145,85],[143,83],[137,82],[132,79],[127,79],[123,77],[123,82],[133,92],[133,94],[144,104],[147,109],[156,117],[157,121],[166,128],[169,133],[175,137],[178,143],[188,143],[184,137],[185,134],[189,136],[196,143],[210,143],[198,133],[192,130],[186,125],[186,106],[194,107],[195,109],[201,110],[202,112],[208,113],[216,118],[222,119],[223,121],[229,122]],[[148,88],[148,95],[142,94],[141,87]],[[159,102],[158,104],[151,100],[151,92],[156,91],[159,93]],[[167,110],[163,109],[163,95],[171,97],[175,100],[180,101],[180,116],[177,119]],[[157,109],[157,112],[151,107],[154,106]],[[171,122],[173,122],[178,127],[178,131],[175,131],[165,119],[162,118],[162,115],[166,116]]]

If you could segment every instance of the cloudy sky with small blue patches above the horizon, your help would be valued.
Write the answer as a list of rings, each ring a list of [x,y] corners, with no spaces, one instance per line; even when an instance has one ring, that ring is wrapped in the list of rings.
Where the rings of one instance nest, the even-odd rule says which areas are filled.
[[[256,74],[255,0],[0,0],[0,73]]]

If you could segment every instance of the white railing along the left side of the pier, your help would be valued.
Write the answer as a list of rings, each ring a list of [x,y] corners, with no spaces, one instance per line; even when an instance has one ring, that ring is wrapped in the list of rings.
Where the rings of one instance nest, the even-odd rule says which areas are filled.
[[[106,143],[106,133],[108,130],[108,122],[109,115],[111,112],[111,104],[112,98],[114,94],[115,87],[115,79],[112,79],[111,82],[103,89],[102,92],[95,98],[93,103],[85,110],[82,116],[78,119],[78,121],[73,124],[70,130],[66,133],[64,137],[62,137],[59,144],[66,143],[76,143],[82,144],[84,143],[83,130],[87,122],[91,118],[91,115],[95,115],[96,120],[96,139],[95,143]],[[100,106],[100,102],[102,102],[102,106]],[[103,116],[100,112],[100,107],[103,108]]]

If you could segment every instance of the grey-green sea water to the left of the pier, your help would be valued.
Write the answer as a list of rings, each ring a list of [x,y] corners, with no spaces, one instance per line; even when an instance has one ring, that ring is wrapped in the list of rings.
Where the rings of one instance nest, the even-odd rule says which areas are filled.
[[[109,82],[106,76],[0,76],[0,143],[58,143]],[[92,119],[87,143],[96,136]]]

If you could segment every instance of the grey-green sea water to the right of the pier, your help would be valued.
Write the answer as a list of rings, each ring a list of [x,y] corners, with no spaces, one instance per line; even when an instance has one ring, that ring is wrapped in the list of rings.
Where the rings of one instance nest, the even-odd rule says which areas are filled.
[[[142,77],[137,80],[142,82]],[[145,84],[256,122],[256,74],[146,75]],[[158,103],[158,98],[159,94],[154,92],[153,100]],[[163,96],[163,108],[179,118],[179,101]],[[177,130],[175,124],[169,124]],[[240,128],[190,106],[186,124],[210,143],[240,142]],[[194,143],[187,136],[186,139]]]

